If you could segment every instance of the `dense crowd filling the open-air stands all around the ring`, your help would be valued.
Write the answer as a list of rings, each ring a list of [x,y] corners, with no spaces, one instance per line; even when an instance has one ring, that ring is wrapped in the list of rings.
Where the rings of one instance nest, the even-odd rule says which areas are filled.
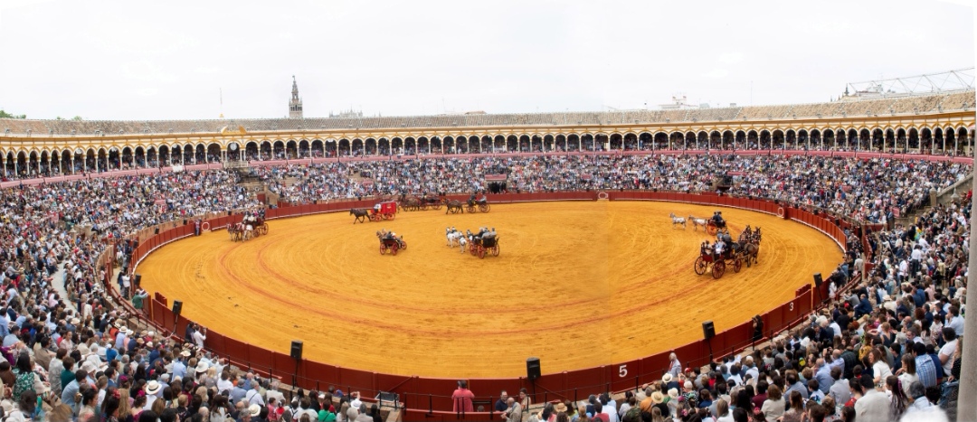
[[[887,225],[870,233],[871,251],[861,251],[852,236],[846,261],[828,278],[832,306],[786,338],[705,372],[679,367],[620,405],[596,398],[580,411],[572,411],[580,403],[554,406],[544,419],[563,413],[567,420],[587,420],[588,413],[613,409],[622,420],[643,418],[643,412],[648,420],[795,420],[804,412],[810,420],[822,414],[850,420],[841,419],[846,413],[858,420],[904,414],[912,420],[913,412],[939,412],[937,403],[949,408],[956,400],[969,197],[923,211],[912,226],[891,223],[895,210],[919,210],[930,189],[953,184],[972,171],[969,165],[813,156],[533,156],[256,170],[290,202],[470,192],[486,189],[482,177],[497,174],[507,175],[510,191],[711,191],[717,177],[734,172],[739,176],[730,193]],[[0,391],[8,420],[379,418],[375,408],[340,391],[286,401],[275,386],[194,347],[204,341],[204,330],[188,332],[184,345],[140,329],[112,306],[101,282],[106,274],[96,265],[107,247],[155,224],[256,206],[237,183],[234,172],[210,170],[0,190]],[[127,267],[128,254],[120,249],[119,264]],[[861,274],[863,257],[876,264],[869,274]],[[124,273],[118,279],[130,287]],[[146,300],[138,285],[126,290],[134,302]]]

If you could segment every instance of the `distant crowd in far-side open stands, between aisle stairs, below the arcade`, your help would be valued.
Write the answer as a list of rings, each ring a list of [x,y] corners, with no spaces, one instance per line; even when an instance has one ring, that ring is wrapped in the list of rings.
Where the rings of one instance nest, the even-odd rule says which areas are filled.
[[[737,156],[581,156],[428,158],[266,167],[259,176],[291,203],[370,195],[485,190],[485,175],[507,175],[508,191],[714,190],[733,174],[730,194],[786,201],[870,223],[913,213],[929,190],[947,188],[972,165],[925,160]],[[353,178],[357,176],[357,178]],[[367,178],[372,184],[361,183]],[[288,180],[289,183],[285,183]]]

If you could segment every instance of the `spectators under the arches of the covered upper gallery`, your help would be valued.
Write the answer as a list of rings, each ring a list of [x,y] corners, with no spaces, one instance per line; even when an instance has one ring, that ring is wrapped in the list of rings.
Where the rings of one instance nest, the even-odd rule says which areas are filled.
[[[932,140],[913,140],[907,141],[906,139],[899,140],[887,140],[882,139],[862,139],[855,140],[851,142],[841,141],[840,143],[835,143],[833,140],[821,140],[821,139],[798,139],[798,140],[771,140],[768,138],[757,139],[755,137],[750,137],[747,139],[740,139],[737,141],[726,140],[720,141],[716,139],[688,139],[683,140],[680,137],[676,139],[668,140],[647,140],[643,143],[639,143],[636,139],[629,138],[626,140],[621,140],[619,142],[612,143],[610,149],[621,150],[621,151],[677,151],[677,150],[710,150],[714,152],[720,151],[742,151],[742,150],[833,150],[833,151],[871,151],[871,152],[883,152],[883,153],[898,153],[898,154],[927,154],[927,155],[945,155],[945,156],[970,156],[970,153],[962,148],[966,145],[965,140],[956,143],[951,141],[950,143],[945,142],[942,139]],[[937,148],[939,146],[939,148]],[[461,142],[457,146],[446,145],[442,147],[438,144],[421,144],[414,145],[413,143],[408,143],[404,146],[400,144],[395,144],[391,147],[389,144],[379,144],[371,143],[366,146],[361,142],[354,143],[352,146],[344,141],[337,146],[336,143],[326,143],[324,145],[320,144],[319,148],[309,148],[307,144],[302,144],[299,148],[294,148],[289,145],[288,148],[282,148],[276,145],[273,149],[267,142],[262,145],[260,150],[255,147],[254,144],[249,144],[247,148],[243,151],[232,151],[228,150],[224,152],[224,155],[219,149],[208,149],[206,152],[203,150],[202,146],[198,146],[195,151],[191,146],[186,147],[183,151],[178,148],[174,148],[172,153],[158,153],[155,150],[150,150],[149,154],[139,150],[138,153],[133,154],[128,150],[125,150],[121,155],[117,152],[112,152],[108,155],[102,154],[99,156],[87,155],[85,157],[78,156],[73,161],[65,160],[65,157],[60,157],[57,153],[54,154],[50,159],[47,157],[42,157],[42,159],[30,159],[29,162],[24,159],[15,160],[8,158],[0,169],[0,180],[18,180],[18,179],[32,179],[40,177],[56,177],[61,175],[70,174],[83,174],[83,173],[105,173],[118,170],[133,170],[140,168],[160,168],[170,165],[190,165],[190,164],[203,164],[203,163],[219,163],[225,158],[227,159],[240,159],[245,161],[268,161],[268,160],[280,160],[280,159],[308,159],[308,158],[321,158],[321,157],[364,157],[364,156],[403,156],[403,155],[442,155],[446,154],[445,158],[450,159],[452,154],[467,154],[474,153],[479,154],[483,152],[488,153],[501,153],[501,152],[567,152],[567,151],[604,151],[607,150],[606,145],[600,142],[595,143],[592,138],[587,138],[584,141],[575,141],[573,143],[561,142],[561,143],[550,143],[543,145],[540,141],[528,142],[508,142],[503,145],[501,143],[496,143],[494,146],[485,145],[473,145],[469,147],[465,143]],[[910,148],[912,147],[912,148]],[[12,156],[12,155],[11,155]],[[59,160],[64,160],[60,162]],[[73,168],[72,168],[73,167]]]

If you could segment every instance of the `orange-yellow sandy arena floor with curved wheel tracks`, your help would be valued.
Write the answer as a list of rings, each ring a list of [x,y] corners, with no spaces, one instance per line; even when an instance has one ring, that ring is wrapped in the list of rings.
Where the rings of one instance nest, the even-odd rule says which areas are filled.
[[[430,377],[518,377],[653,355],[742,323],[829,274],[828,236],[775,216],[724,208],[734,238],[763,228],[759,264],[721,279],[693,272],[707,235],[673,230],[665,202],[493,204],[488,214],[402,212],[352,225],[347,213],[276,220],[267,236],[210,232],[164,246],[139,266],[143,285],[222,334],[345,367]],[[496,228],[501,254],[446,246],[445,228]],[[374,232],[404,235],[379,253]]]

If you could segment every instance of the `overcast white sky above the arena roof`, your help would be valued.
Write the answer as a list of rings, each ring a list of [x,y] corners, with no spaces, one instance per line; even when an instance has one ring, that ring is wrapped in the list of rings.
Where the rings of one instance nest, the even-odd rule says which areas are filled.
[[[954,1],[0,0],[0,108],[281,117],[293,74],[307,117],[823,102],[973,66]]]

